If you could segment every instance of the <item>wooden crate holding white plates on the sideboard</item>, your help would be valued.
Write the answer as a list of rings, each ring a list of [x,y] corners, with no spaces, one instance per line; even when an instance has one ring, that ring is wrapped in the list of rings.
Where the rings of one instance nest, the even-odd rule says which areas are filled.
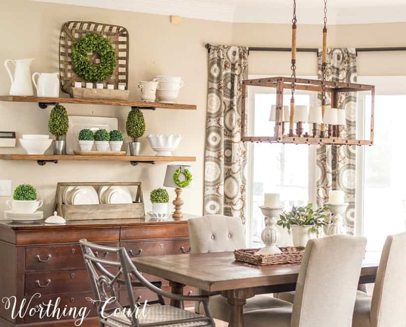
[[[96,191],[101,186],[132,186],[137,187],[137,192],[133,203],[71,205],[62,203],[62,187],[69,186],[92,186],[96,188]],[[59,216],[62,216],[67,221],[145,218],[144,199],[140,182],[57,183],[55,210]]]

